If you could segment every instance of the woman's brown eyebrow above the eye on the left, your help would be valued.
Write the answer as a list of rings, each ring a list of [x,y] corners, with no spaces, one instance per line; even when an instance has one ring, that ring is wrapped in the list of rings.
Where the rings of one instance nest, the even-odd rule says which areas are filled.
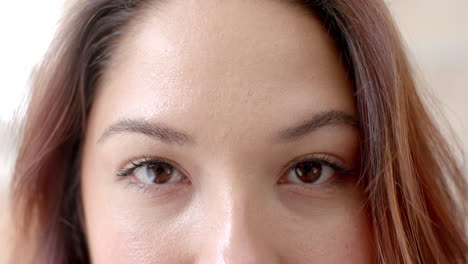
[[[137,133],[158,139],[167,144],[191,144],[193,138],[182,131],[167,127],[159,123],[150,123],[139,119],[123,119],[108,127],[97,141],[102,143],[111,135],[122,132]]]

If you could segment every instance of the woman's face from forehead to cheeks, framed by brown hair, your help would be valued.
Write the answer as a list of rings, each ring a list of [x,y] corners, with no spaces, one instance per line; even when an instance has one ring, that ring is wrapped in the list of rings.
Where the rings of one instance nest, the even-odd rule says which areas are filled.
[[[371,263],[353,91],[320,22],[281,1],[161,4],[90,114],[93,263]]]

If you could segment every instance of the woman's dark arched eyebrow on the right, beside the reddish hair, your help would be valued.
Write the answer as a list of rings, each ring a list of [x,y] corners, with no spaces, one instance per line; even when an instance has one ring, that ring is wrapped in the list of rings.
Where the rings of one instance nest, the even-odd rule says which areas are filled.
[[[300,122],[298,125],[281,129],[276,137],[276,142],[291,142],[326,126],[346,125],[358,128],[358,121],[342,111],[332,110],[314,114],[311,118]]]

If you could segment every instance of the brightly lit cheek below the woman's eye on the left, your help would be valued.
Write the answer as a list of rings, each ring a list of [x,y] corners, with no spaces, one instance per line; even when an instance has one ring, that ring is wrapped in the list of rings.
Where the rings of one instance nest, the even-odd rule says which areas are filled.
[[[88,222],[93,263],[188,263],[181,252],[189,252],[189,236],[180,219],[160,221],[154,214],[119,207],[101,208],[98,214]]]

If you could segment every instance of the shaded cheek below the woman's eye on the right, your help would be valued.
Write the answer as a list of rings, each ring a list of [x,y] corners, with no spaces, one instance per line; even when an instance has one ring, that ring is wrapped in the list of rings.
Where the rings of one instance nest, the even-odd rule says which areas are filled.
[[[284,193],[280,198],[283,219],[282,245],[286,263],[375,263],[371,223],[362,194],[343,183],[338,194],[305,198]]]

